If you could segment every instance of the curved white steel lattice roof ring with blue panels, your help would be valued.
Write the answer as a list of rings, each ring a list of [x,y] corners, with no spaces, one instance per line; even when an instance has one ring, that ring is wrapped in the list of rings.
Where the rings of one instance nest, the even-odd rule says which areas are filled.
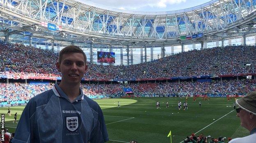
[[[104,45],[172,45],[255,33],[256,0],[212,0],[167,12],[112,9],[82,0],[0,0],[2,32],[16,38]],[[62,26],[49,31],[48,22]],[[202,38],[180,36],[203,33]]]

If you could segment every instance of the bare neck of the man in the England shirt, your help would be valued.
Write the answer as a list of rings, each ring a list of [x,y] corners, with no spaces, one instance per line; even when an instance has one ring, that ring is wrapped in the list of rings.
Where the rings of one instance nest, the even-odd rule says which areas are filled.
[[[60,83],[59,87],[62,91],[69,97],[69,100],[73,102],[77,96],[80,95],[80,84],[78,85],[67,85],[64,83]]]

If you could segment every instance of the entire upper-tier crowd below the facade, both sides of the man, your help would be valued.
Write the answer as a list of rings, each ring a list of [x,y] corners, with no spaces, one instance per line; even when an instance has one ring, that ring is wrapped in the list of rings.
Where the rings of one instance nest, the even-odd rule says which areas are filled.
[[[0,41],[0,74],[57,77],[58,53],[22,44]],[[254,46],[226,46],[192,50],[128,66],[103,66],[88,63],[87,79],[170,78],[255,73]],[[246,66],[246,64],[251,64]],[[7,71],[7,72],[6,72]],[[124,73],[124,74],[121,74]]]

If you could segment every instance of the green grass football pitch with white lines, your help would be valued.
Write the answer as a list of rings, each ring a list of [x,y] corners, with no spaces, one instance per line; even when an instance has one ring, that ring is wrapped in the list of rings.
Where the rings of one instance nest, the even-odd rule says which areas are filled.
[[[240,126],[240,119],[233,110],[233,101],[226,98],[210,98],[202,101],[197,98],[193,102],[188,98],[188,109],[178,110],[178,101],[182,103],[185,98],[114,98],[101,99],[96,102],[103,109],[105,123],[110,141],[107,143],[129,143],[137,140],[138,143],[170,143],[167,137],[171,130],[172,143],[181,143],[186,136],[192,133],[218,138],[226,136],[235,138],[249,134]],[[201,100],[201,107],[199,101]],[[121,107],[117,107],[117,102]],[[156,109],[156,101],[160,102],[161,109]],[[169,107],[166,102],[169,101]],[[9,132],[15,132],[18,119],[24,106],[11,107],[11,116],[7,114],[7,107],[0,108],[5,113],[5,127]],[[228,141],[226,141],[228,142]]]

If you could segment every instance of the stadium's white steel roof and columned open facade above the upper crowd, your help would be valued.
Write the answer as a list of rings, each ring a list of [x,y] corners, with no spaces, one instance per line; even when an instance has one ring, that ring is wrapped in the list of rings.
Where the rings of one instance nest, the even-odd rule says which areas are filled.
[[[1,0],[1,38],[47,50],[78,45],[90,63],[97,51],[114,65],[153,61],[192,49],[256,45],[256,0],[211,0],[166,12],[139,12],[83,0]],[[103,64],[103,63],[101,63]]]

